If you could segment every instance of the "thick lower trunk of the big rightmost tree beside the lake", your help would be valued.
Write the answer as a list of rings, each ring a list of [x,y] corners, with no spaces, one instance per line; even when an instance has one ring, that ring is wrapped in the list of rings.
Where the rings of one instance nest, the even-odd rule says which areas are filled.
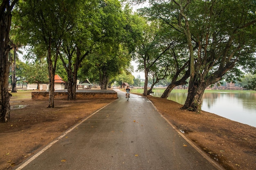
[[[182,109],[200,112],[202,106],[202,96],[204,94],[205,88],[208,85],[204,83],[204,81],[195,81],[196,78],[197,76],[194,76],[194,79],[191,78],[189,81],[188,96]]]

